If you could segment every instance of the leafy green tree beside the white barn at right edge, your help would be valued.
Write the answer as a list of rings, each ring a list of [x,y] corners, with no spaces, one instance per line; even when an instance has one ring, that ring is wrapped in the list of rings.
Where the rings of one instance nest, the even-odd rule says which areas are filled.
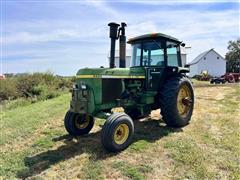
[[[225,59],[227,60],[227,72],[240,73],[240,39],[228,42]]]

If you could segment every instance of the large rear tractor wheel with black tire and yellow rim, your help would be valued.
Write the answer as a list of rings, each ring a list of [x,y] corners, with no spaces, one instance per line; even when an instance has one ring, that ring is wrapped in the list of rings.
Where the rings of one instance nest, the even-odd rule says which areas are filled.
[[[160,108],[168,126],[182,127],[191,119],[194,93],[190,80],[184,76],[168,79],[160,91]]]

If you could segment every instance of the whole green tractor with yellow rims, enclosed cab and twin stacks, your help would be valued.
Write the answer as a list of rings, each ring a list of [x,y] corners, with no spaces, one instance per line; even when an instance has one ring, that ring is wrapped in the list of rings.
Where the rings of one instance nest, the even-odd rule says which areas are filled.
[[[101,141],[107,151],[126,149],[134,134],[133,119],[161,109],[170,127],[183,127],[191,119],[194,92],[187,78],[180,47],[184,43],[161,34],[147,34],[128,40],[132,46],[131,67],[126,68],[125,23],[109,23],[110,67],[84,68],[77,72],[70,109],[64,124],[72,136],[88,134],[94,117],[104,113]],[[115,42],[119,39],[119,68],[115,67]],[[121,107],[124,112],[112,112]]]

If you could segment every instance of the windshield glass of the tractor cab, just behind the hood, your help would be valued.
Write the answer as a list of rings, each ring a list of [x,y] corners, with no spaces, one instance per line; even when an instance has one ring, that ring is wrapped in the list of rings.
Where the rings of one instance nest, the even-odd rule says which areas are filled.
[[[164,49],[161,42],[151,41],[133,45],[132,66],[163,66]]]

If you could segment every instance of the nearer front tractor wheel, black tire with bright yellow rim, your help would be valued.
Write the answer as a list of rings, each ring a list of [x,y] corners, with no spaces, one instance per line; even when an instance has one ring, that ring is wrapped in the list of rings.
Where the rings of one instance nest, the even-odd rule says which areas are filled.
[[[103,147],[110,152],[126,149],[132,142],[134,124],[125,113],[114,113],[106,120],[101,133]]]

